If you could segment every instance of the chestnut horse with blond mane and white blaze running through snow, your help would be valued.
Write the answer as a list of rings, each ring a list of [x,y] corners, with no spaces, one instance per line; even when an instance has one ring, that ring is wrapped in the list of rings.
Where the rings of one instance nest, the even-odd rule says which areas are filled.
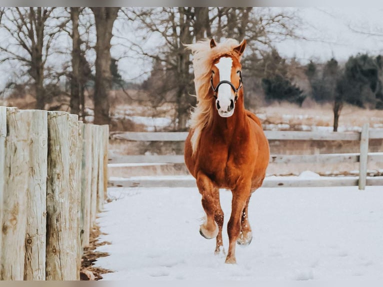
[[[208,239],[216,237],[215,254],[225,252],[218,188],[232,192],[226,263],[236,263],[235,242],[247,245],[252,239],[248,201],[262,185],[269,161],[261,123],[243,104],[240,57],[245,46],[245,40],[239,44],[234,39],[187,45],[193,55],[197,105],[191,112],[184,159],[196,179],[206,212],[199,232]]]

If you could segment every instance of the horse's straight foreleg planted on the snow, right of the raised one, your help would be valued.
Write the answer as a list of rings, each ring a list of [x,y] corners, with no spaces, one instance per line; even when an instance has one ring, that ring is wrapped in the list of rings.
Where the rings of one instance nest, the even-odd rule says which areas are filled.
[[[238,184],[232,191],[231,215],[227,223],[227,234],[229,239],[226,263],[236,263],[235,242],[240,233],[242,211],[250,194],[250,182]]]

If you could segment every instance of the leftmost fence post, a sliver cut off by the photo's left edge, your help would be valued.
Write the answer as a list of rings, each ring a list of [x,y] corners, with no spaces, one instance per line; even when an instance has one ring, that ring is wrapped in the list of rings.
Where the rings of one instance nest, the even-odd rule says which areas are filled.
[[[5,177],[5,138],[6,138],[6,107],[0,106],[0,227],[2,226],[3,217],[3,194],[4,194],[4,177]],[[0,232],[0,263],[2,248],[2,232]],[[1,264],[0,264],[1,268]],[[0,273],[1,278],[1,273]]]

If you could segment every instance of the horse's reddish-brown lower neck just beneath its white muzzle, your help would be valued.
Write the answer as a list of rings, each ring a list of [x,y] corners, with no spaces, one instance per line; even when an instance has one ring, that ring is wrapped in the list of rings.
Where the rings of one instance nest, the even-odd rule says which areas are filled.
[[[235,104],[234,113],[229,117],[221,117],[214,110],[212,128],[216,130],[215,134],[231,138],[235,132],[241,132],[246,125],[246,112],[243,102],[238,100]]]

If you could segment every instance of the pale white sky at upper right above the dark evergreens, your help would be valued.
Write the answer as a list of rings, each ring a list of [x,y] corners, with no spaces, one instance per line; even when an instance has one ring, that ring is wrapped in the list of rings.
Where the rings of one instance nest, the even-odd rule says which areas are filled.
[[[383,52],[383,8],[376,7],[294,7],[304,25],[297,33],[310,40],[284,40],[276,43],[281,55],[326,61],[334,56],[347,60],[358,52]],[[352,29],[379,36],[362,34]]]

